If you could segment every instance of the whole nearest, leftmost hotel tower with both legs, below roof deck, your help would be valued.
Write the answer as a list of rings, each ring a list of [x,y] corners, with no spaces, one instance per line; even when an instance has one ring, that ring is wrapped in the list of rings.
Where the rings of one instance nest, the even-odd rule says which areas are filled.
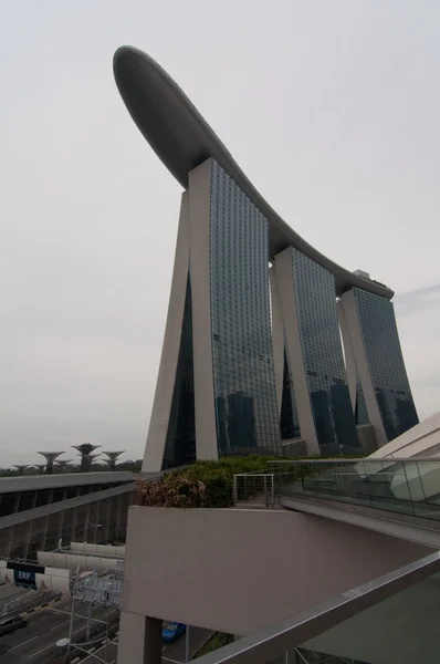
[[[226,170],[191,170],[143,470],[281,454],[268,257],[269,220]]]

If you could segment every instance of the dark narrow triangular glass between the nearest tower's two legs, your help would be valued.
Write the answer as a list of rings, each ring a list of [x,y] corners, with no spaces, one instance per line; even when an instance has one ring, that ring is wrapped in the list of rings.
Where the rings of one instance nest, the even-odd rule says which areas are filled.
[[[196,460],[191,282],[188,274],[179,359],[163,460],[175,468]]]

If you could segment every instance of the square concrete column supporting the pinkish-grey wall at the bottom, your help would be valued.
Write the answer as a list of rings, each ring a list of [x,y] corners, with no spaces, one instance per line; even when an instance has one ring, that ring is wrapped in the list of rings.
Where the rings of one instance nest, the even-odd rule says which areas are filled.
[[[117,664],[160,664],[163,621],[121,612]]]

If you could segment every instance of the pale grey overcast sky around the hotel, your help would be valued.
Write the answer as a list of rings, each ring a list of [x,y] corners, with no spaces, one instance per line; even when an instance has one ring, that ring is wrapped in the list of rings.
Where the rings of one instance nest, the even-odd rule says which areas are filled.
[[[440,409],[437,0],[0,7],[0,465],[87,440],[143,454],[181,188],[118,95],[121,44],[287,224],[396,291],[419,415]]]

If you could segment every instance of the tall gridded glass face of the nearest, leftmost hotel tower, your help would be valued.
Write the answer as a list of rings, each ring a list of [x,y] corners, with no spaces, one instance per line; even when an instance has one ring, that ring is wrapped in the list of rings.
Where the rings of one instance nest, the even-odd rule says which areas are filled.
[[[220,456],[281,454],[268,258],[268,219],[213,162],[210,289]]]

